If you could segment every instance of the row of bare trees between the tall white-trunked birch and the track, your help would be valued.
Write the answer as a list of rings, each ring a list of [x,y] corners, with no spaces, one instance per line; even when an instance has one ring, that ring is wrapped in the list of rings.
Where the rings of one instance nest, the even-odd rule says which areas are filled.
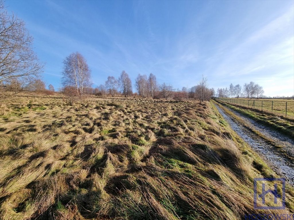
[[[182,90],[176,90],[171,84],[162,83],[159,84],[156,80],[156,76],[150,73],[148,76],[145,74],[138,74],[135,79],[136,92],[133,93],[131,79],[126,73],[122,71],[118,79],[114,76],[108,76],[104,84],[99,85],[92,90],[89,94],[96,94],[105,97],[123,95],[124,97],[139,95],[141,98],[153,98],[153,99],[199,99],[201,101],[209,100],[214,95],[214,89],[208,88],[207,78],[202,78],[198,85],[193,86],[190,89],[183,87]]]

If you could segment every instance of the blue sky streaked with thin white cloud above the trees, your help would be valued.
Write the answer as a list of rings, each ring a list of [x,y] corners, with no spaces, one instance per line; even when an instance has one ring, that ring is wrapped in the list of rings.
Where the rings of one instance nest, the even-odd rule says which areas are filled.
[[[79,51],[93,86],[122,70],[181,89],[254,81],[265,95],[294,94],[294,1],[6,1],[23,19],[59,88],[62,61]]]

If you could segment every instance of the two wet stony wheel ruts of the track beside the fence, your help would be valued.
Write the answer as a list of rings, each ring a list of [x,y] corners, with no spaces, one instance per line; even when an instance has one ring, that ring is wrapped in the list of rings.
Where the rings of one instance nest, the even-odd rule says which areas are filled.
[[[216,105],[216,108],[229,123],[231,128],[245,142],[247,142],[248,145],[250,145],[252,149],[257,152],[280,177],[285,178],[290,184],[294,185],[294,164],[290,159],[283,157],[283,154],[277,151],[276,147],[273,147],[272,145],[265,142],[265,140],[251,132],[248,128],[244,127],[240,122],[234,120],[231,116],[226,115],[225,112],[220,107],[218,107],[218,105]],[[254,120],[249,119],[238,112],[235,112],[231,109],[229,110],[238,117],[245,120],[246,123],[248,123],[248,125],[251,127],[254,127],[255,130],[258,130],[263,135],[274,140],[279,145],[282,145],[283,150],[285,150],[287,154],[290,154],[291,156],[294,155],[294,141],[292,139],[276,131],[273,131],[268,127],[260,125]]]

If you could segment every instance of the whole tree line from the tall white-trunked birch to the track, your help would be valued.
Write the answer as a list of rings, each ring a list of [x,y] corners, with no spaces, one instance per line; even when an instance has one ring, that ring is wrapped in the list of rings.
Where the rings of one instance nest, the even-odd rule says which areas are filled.
[[[107,80],[96,88],[91,87],[91,70],[88,67],[86,59],[79,53],[71,53],[63,61],[64,67],[61,79],[61,93],[66,96],[72,105],[76,100],[87,94],[107,95],[115,97],[122,95],[124,97],[141,96],[142,98],[163,98],[183,100],[188,98],[199,99],[201,101],[209,100],[214,95],[214,89],[208,88],[207,78],[202,76],[199,84],[193,86],[190,90],[185,87],[181,91],[175,90],[171,84],[159,84],[156,76],[150,73],[138,74],[135,80],[136,92],[133,93],[132,81],[123,70],[118,78],[108,76]]]

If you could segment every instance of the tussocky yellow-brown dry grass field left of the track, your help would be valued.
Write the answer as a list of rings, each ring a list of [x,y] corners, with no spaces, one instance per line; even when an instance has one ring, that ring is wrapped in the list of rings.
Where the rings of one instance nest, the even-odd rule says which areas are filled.
[[[198,101],[19,97],[0,155],[0,219],[242,219],[253,178],[275,176]]]

